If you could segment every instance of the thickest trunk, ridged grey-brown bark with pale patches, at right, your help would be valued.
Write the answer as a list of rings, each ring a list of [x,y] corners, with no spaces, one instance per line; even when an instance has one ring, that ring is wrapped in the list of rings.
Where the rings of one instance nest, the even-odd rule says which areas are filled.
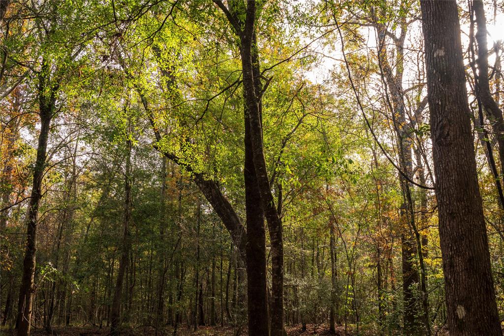
[[[439,240],[452,335],[501,335],[455,1],[421,1]]]

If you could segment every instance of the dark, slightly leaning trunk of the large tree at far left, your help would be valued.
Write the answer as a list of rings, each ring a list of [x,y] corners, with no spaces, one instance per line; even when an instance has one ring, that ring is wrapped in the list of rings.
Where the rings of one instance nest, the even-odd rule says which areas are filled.
[[[54,113],[56,101],[56,92],[58,85],[50,86],[49,64],[43,60],[42,70],[38,75],[38,104],[40,115],[40,135],[38,137],[37,158],[33,170],[33,186],[30,194],[27,212],[27,238],[26,250],[23,260],[23,275],[21,278],[21,288],[19,291],[18,318],[17,327],[18,335],[30,334],[30,323],[32,314],[33,291],[35,290],[35,253],[37,249],[37,221],[40,199],[42,198],[42,179],[45,170],[45,155],[47,152],[47,139],[49,137],[50,123]],[[47,94],[47,89],[49,94]]]

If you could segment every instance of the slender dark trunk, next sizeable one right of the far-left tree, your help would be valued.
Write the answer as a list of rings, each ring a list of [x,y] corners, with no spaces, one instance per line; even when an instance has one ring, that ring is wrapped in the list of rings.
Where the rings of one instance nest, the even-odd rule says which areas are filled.
[[[127,140],[127,157],[124,176],[124,215],[122,220],[122,237],[120,242],[121,256],[119,259],[119,269],[117,270],[117,279],[115,281],[114,298],[112,300],[112,309],[110,312],[110,333],[119,334],[120,325],[120,306],[122,301],[122,283],[126,268],[130,258],[130,220],[131,220],[131,151],[132,142]]]

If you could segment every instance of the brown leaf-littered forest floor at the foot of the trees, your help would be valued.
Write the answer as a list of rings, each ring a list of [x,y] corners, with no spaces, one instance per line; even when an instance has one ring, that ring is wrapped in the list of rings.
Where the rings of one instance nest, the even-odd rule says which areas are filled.
[[[307,335],[329,335],[328,325],[313,325],[308,324],[306,331],[302,331],[301,325],[286,326],[287,334],[289,336],[307,336]],[[31,335],[36,336],[48,336],[48,335],[60,335],[60,336],[105,336],[110,333],[109,328],[97,328],[97,327],[62,327],[54,328],[52,332],[48,332],[45,329],[32,329]],[[9,329],[0,329],[0,335],[15,335],[15,332]],[[122,335],[140,336],[140,335],[155,335],[156,332],[154,328],[151,327],[139,327],[128,331],[124,331]],[[166,329],[165,335],[172,335],[172,329]],[[242,329],[239,335],[246,335],[246,328]],[[236,336],[237,329],[233,327],[220,327],[220,326],[200,326],[198,331],[193,331],[188,329],[185,325],[179,327],[177,330],[177,335],[180,336]],[[336,328],[336,335],[345,335],[345,328],[343,326],[338,326]],[[346,335],[351,335],[347,333]],[[370,334],[371,335],[371,334]]]

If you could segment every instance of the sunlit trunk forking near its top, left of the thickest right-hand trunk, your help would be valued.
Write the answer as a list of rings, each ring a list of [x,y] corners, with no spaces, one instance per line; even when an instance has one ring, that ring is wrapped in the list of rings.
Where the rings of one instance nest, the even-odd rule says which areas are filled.
[[[374,12],[373,12],[374,15]],[[397,137],[397,147],[399,151],[399,166],[403,173],[407,176],[399,174],[399,181],[401,183],[401,191],[403,195],[403,203],[401,205],[401,220],[403,228],[401,232],[401,250],[402,250],[402,270],[403,270],[403,296],[404,296],[404,332],[406,335],[416,335],[418,333],[427,333],[430,335],[429,323],[429,309],[428,297],[425,283],[425,267],[422,255],[422,243],[420,233],[417,229],[415,222],[414,202],[411,196],[412,185],[408,181],[413,178],[413,163],[411,155],[411,147],[413,141],[411,139],[410,123],[406,122],[406,105],[404,103],[404,89],[403,89],[403,63],[404,63],[404,41],[408,29],[406,17],[401,17],[400,36],[394,39],[396,49],[395,69],[393,74],[391,63],[387,57],[386,40],[387,27],[379,20],[375,21],[375,27],[379,36],[379,66],[384,84],[391,93],[389,99],[387,93],[387,102],[392,112],[392,120]],[[420,264],[421,274],[419,276],[416,266],[416,258]],[[420,314],[419,298],[415,294],[416,287],[420,285],[422,313]],[[423,315],[423,328],[422,321],[418,319]]]

